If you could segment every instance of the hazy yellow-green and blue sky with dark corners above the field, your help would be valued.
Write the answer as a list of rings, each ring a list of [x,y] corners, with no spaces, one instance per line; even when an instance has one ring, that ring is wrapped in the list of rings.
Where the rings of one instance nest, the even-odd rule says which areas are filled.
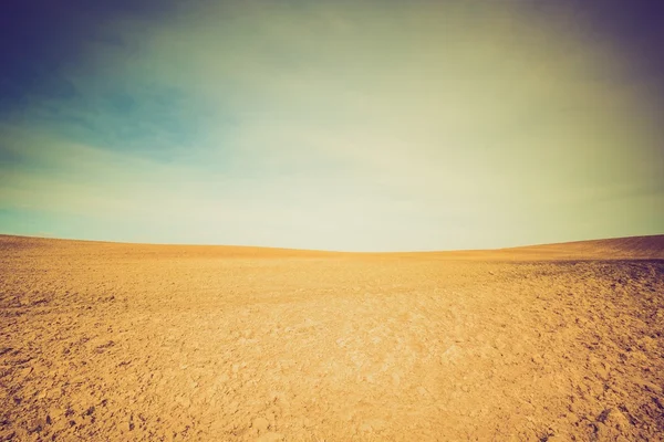
[[[0,233],[344,251],[664,233],[658,2],[2,8]]]

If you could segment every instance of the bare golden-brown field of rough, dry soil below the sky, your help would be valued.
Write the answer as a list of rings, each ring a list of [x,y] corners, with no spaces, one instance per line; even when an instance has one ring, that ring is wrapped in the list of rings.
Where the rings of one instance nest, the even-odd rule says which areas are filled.
[[[0,236],[0,440],[662,440],[663,259]]]

